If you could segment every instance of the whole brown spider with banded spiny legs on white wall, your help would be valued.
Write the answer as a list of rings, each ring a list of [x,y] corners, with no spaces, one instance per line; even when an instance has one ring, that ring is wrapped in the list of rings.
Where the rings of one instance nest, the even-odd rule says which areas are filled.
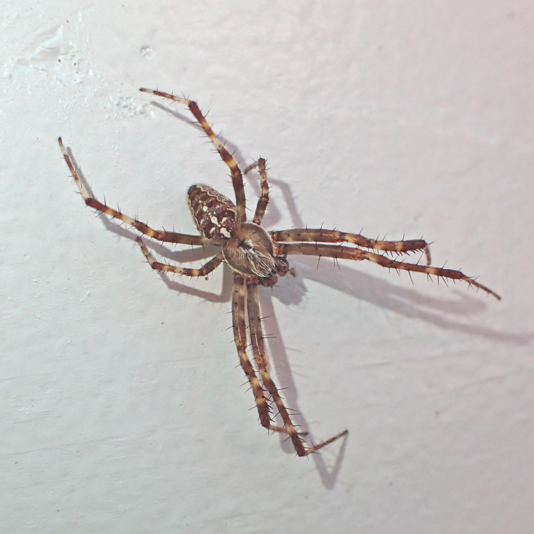
[[[290,410],[286,408],[278,387],[276,387],[267,369],[268,360],[263,342],[258,286],[272,287],[278,281],[279,276],[286,276],[289,271],[287,257],[290,254],[326,256],[335,258],[335,261],[339,259],[366,260],[378,263],[378,265],[387,269],[395,269],[397,272],[407,271],[410,277],[412,272],[417,272],[425,273],[428,277],[436,276],[444,281],[446,279],[453,281],[463,280],[469,286],[480,288],[498,299],[501,298],[493,290],[464,275],[461,271],[430,266],[429,246],[423,239],[379,241],[377,239],[368,239],[360,234],[349,234],[322,228],[266,231],[260,226],[269,199],[266,160],[259,158],[254,164],[247,167],[244,172],[241,172],[234,157],[211,130],[196,102],[159,90],[141,88],[140,91],[186,105],[198,121],[199,126],[211,140],[217,152],[219,152],[221,159],[230,169],[231,182],[236,197],[235,204],[208,185],[194,184],[189,187],[187,192],[189,209],[199,231],[199,236],[181,234],[174,231],[154,230],[147,224],[122,214],[119,209],[112,209],[105,202],[102,203],[90,197],[63,145],[61,137],[59,137],[58,142],[63,158],[87,206],[100,213],[107,214],[111,219],[119,219],[137,229],[141,234],[158,241],[192,246],[214,244],[221,247],[221,251],[200,268],[183,268],[156,261],[141,237],[137,237],[137,242],[147,262],[156,271],[198,277],[207,276],[223,262],[229,265],[234,275],[231,298],[234,341],[239,355],[239,363],[253,392],[260,424],[269,431],[287,434],[298,456],[308,456],[319,451],[325,445],[347,434],[347,430],[330,439],[320,441],[318,444],[306,446],[303,439],[305,434],[300,433],[297,426],[293,424],[289,414]],[[243,174],[246,174],[251,169],[257,169],[261,184],[261,194],[256,204],[256,211],[254,211],[252,221],[247,221]],[[387,257],[388,253],[397,254],[398,258],[399,255],[416,252],[424,252],[426,254],[426,265],[407,263]],[[250,345],[247,340],[247,326]],[[251,359],[248,357],[247,349],[249,346],[252,348],[253,361],[256,362],[256,367],[253,366]],[[276,406],[283,426],[278,426],[275,423],[271,408],[272,404]]]

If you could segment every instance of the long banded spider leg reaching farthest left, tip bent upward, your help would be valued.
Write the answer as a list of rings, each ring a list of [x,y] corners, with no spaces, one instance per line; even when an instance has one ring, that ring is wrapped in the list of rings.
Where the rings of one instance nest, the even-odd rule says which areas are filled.
[[[180,243],[184,245],[205,245],[209,243],[209,239],[206,239],[202,236],[189,236],[188,234],[179,234],[178,232],[170,232],[167,230],[154,230],[150,228],[150,226],[148,226],[147,224],[138,221],[133,217],[122,214],[117,209],[112,209],[110,208],[110,206],[102,204],[102,202],[98,201],[97,199],[90,197],[87,192],[87,189],[85,189],[82,181],[80,180],[80,177],[78,176],[78,172],[76,171],[73,162],[70,160],[70,156],[68,155],[66,148],[63,145],[63,140],[61,140],[61,137],[58,138],[58,142],[59,147],[61,148],[61,152],[63,153],[63,158],[65,159],[70,170],[70,174],[72,174],[76,185],[78,185],[78,189],[80,189],[80,194],[82,195],[83,201],[87,206],[90,206],[91,208],[96,209],[101,213],[105,213],[106,215],[109,215],[112,218],[124,221],[126,224],[130,224],[130,226],[133,226],[135,229],[139,230],[142,234],[145,234],[145,236],[152,237],[154,239],[157,239],[158,241],[164,241],[166,243]]]

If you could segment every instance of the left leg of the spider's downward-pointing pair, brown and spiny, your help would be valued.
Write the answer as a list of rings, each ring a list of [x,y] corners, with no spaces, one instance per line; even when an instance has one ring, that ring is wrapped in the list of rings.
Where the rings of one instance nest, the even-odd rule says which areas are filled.
[[[248,379],[248,383],[251,384],[261,426],[264,426],[269,430],[278,430],[271,422],[271,407],[269,407],[265,393],[263,392],[263,387],[261,387],[256,371],[251,364],[251,360],[248,359],[248,355],[246,354],[245,298],[245,279],[241,274],[234,273],[234,290],[232,292],[232,328],[234,330],[234,341],[236,342],[237,353],[239,355],[239,363]]]

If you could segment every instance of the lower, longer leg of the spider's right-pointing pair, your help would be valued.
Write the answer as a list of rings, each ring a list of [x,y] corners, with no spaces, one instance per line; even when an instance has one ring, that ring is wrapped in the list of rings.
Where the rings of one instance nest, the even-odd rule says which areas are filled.
[[[483,286],[473,278],[466,276],[461,271],[454,271],[454,269],[446,269],[442,267],[429,267],[419,265],[418,263],[405,263],[404,261],[396,261],[381,254],[370,251],[363,251],[361,248],[353,248],[342,245],[324,245],[313,243],[278,243],[278,253],[280,254],[305,254],[307,256],[326,256],[328,258],[343,258],[355,261],[372,261],[378,263],[382,267],[388,269],[396,269],[397,271],[409,271],[416,273],[425,273],[427,276],[436,276],[437,278],[449,278],[451,280],[463,280],[469,286],[475,286],[490,295],[501,300],[501,297],[490,288]]]

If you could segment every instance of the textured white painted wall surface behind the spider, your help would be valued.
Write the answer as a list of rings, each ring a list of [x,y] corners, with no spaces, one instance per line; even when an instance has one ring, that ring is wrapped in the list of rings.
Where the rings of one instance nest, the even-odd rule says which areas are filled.
[[[1,532],[532,532],[532,2],[41,0],[2,17]],[[58,135],[97,197],[152,226],[194,230],[193,182],[231,194],[141,86],[191,95],[244,162],[268,158],[270,228],[424,235],[502,302],[294,259],[262,296],[273,367],[315,439],[350,429],[295,458],[248,411],[229,273],[167,288],[74,193]]]

